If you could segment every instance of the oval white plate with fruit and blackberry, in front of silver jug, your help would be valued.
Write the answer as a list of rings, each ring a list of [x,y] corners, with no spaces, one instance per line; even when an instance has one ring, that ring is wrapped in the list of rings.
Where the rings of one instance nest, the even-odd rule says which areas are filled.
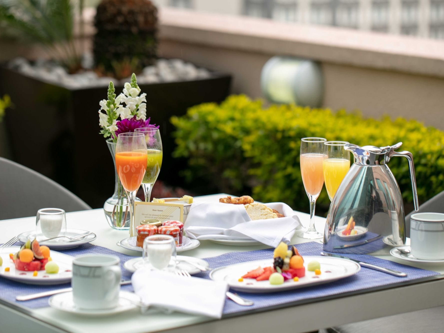
[[[219,267],[211,271],[210,278],[246,293],[272,293],[337,281],[360,270],[357,262],[347,259],[302,257],[294,246],[288,250],[281,242],[274,250],[274,258]]]

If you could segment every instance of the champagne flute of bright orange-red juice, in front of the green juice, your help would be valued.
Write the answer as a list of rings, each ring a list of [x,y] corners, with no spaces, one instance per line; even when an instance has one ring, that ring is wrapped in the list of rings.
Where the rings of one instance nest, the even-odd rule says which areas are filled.
[[[147,145],[143,133],[120,133],[115,147],[115,166],[130,206],[130,237],[135,236],[134,202],[147,169]]]

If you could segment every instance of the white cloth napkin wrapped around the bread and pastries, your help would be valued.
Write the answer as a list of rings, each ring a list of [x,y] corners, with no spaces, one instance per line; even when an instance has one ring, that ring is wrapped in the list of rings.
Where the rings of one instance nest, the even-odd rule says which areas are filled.
[[[279,242],[289,243],[294,230],[301,225],[290,206],[283,202],[265,204],[285,215],[252,221],[244,205],[221,202],[195,202],[191,206],[184,230],[190,238],[251,240],[276,247]]]

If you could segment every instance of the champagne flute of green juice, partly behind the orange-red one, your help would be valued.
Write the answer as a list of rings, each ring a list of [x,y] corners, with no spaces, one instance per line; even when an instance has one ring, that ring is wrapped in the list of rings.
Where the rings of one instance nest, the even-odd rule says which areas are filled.
[[[160,131],[158,128],[136,128],[135,133],[142,133],[145,135],[145,142],[147,144],[147,172],[142,180],[142,188],[143,194],[145,194],[145,201],[150,202],[151,190],[159,176],[160,168],[162,166],[162,139],[160,139]]]

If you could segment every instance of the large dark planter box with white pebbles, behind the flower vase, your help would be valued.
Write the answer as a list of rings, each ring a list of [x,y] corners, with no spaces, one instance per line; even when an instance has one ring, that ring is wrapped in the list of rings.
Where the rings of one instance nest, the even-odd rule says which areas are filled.
[[[212,74],[209,79],[139,85],[147,93],[147,117],[160,125],[159,179],[167,184],[183,186],[179,173],[185,167],[185,161],[171,156],[175,144],[170,117],[184,115],[199,103],[221,102],[230,93],[231,76]],[[116,95],[122,89],[116,86]],[[99,134],[97,114],[107,87],[61,87],[0,67],[3,94],[15,105],[5,117],[12,158],[62,184],[90,206],[102,207],[114,190],[114,167]]]

